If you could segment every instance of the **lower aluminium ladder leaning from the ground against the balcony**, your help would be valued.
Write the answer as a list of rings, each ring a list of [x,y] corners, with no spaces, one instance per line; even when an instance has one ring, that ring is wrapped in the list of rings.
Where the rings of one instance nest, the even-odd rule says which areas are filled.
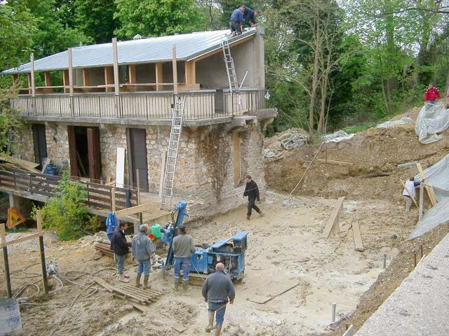
[[[175,172],[177,164],[177,151],[180,147],[182,120],[184,119],[185,97],[181,100],[175,96],[175,107],[171,119],[170,141],[168,142],[168,153],[166,170],[163,177],[161,209],[168,205],[170,207],[173,197],[173,186],[175,182]]]

